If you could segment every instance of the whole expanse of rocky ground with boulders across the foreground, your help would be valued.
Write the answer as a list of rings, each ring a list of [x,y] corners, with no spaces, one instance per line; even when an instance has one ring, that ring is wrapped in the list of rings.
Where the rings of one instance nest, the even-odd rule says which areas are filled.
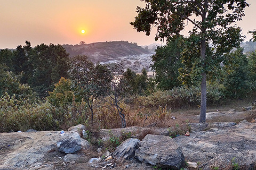
[[[214,116],[241,114],[245,113],[209,113],[207,121],[211,122]],[[60,131],[0,133],[0,169],[256,169],[256,123],[185,126],[190,128],[190,136],[180,134],[173,139],[171,128],[101,130],[102,140],[131,134],[114,152],[92,147],[79,135],[82,126],[63,134]],[[146,137],[141,139],[143,132]]]

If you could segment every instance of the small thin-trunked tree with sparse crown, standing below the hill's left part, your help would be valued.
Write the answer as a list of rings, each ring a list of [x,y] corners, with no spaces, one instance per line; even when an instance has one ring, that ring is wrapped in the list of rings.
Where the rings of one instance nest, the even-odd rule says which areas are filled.
[[[94,100],[105,96],[110,88],[111,74],[107,66],[94,64],[87,56],[76,56],[71,61],[69,70],[71,78],[75,81],[77,94],[83,96],[91,110],[91,123],[93,124]]]

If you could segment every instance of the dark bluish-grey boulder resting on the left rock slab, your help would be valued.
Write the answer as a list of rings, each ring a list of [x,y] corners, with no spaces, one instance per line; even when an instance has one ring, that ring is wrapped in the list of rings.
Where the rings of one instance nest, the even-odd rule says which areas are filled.
[[[71,132],[71,135],[65,133],[57,142],[58,150],[66,154],[73,154],[82,149],[82,140],[77,132]]]

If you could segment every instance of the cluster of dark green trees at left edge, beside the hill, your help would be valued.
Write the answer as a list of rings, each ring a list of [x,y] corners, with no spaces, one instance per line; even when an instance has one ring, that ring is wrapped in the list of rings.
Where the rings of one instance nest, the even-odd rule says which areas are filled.
[[[69,57],[61,45],[41,44],[31,48],[29,41],[26,41],[25,46],[19,45],[13,51],[2,49],[0,63],[2,74],[19,77],[20,83],[28,84],[39,98],[46,97],[61,77],[68,78]],[[1,86],[0,95],[12,89],[7,87],[9,85],[5,83]]]

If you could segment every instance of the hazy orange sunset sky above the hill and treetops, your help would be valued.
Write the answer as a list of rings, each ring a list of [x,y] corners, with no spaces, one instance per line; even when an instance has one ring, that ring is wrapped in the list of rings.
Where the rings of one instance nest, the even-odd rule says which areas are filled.
[[[249,30],[256,29],[256,1],[247,0],[243,21],[246,40]],[[137,15],[140,0],[0,0],[0,49],[38,44],[86,44],[127,40],[138,45],[155,42],[156,30],[146,36],[137,32],[130,22]],[[189,27],[186,29],[190,29]],[[84,30],[85,33],[81,31]]]

